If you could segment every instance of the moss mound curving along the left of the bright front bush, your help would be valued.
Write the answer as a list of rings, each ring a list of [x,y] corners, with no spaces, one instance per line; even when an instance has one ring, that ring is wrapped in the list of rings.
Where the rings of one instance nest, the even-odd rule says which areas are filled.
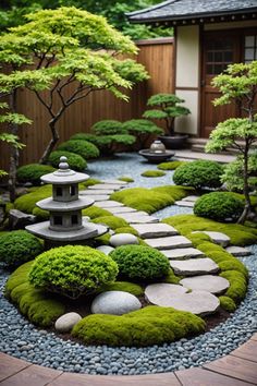
[[[28,274],[34,262],[20,266],[8,279],[4,295],[16,304],[29,322],[40,327],[50,327],[65,313],[63,303],[35,289],[28,281]]]

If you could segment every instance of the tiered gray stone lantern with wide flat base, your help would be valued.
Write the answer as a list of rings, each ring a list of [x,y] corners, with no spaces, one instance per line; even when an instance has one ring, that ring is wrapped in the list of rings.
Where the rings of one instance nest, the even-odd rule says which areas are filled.
[[[50,220],[26,227],[26,230],[45,239],[46,248],[79,243],[108,231],[108,228],[83,218],[82,209],[91,206],[94,200],[78,195],[78,183],[89,176],[69,168],[66,157],[60,158],[59,169],[41,177],[52,184],[52,197],[37,202],[41,209],[49,210]]]

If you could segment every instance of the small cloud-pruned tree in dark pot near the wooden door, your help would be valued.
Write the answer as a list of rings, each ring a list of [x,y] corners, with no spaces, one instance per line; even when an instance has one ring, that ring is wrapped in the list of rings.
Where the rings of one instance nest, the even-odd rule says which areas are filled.
[[[147,106],[157,106],[158,109],[146,110],[143,114],[147,119],[161,119],[166,122],[167,135],[174,136],[174,122],[176,117],[187,116],[189,109],[181,106],[184,100],[174,94],[156,94],[147,100]]]

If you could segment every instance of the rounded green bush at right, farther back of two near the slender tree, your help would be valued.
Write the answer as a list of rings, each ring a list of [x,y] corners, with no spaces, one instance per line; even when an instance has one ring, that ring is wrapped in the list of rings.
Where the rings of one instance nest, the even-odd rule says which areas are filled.
[[[173,174],[173,181],[176,185],[216,189],[222,184],[222,173],[223,167],[219,162],[196,160],[181,165]]]

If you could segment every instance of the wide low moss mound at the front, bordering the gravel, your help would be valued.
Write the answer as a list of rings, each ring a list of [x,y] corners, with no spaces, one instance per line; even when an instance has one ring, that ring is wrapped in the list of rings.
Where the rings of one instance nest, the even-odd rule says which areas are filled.
[[[72,335],[86,345],[145,347],[204,331],[205,322],[199,316],[152,305],[122,316],[87,316],[75,325]]]

